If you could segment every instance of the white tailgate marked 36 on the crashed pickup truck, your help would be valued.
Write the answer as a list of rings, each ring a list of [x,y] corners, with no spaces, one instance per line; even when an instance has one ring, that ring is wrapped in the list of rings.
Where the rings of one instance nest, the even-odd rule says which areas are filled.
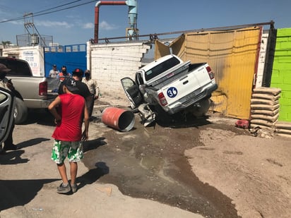
[[[172,104],[172,102],[176,102],[191,92],[193,92],[193,96],[191,97],[195,97],[195,95],[199,94],[195,93],[195,90],[200,89],[208,83],[211,83],[208,72],[205,66],[201,66],[200,68],[189,71],[182,78],[174,80],[172,83],[162,87],[162,92],[167,99],[167,103]]]

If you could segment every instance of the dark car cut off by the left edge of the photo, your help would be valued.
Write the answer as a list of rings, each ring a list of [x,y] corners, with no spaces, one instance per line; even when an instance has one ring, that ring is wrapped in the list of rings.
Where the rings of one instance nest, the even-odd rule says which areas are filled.
[[[12,92],[0,87],[0,145],[8,137],[13,123],[15,99]]]

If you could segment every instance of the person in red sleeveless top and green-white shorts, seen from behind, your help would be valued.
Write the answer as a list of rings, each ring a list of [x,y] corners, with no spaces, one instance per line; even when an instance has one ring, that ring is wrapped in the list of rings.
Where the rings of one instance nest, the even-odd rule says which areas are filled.
[[[57,169],[62,183],[57,193],[76,193],[76,176],[78,162],[83,159],[83,140],[88,140],[89,116],[85,99],[81,95],[73,94],[77,91],[76,80],[65,78],[63,81],[63,95],[59,95],[49,104],[49,111],[54,116],[57,127],[52,134],[54,146],[52,160],[57,163]],[[85,130],[82,133],[84,121]],[[66,174],[64,160],[69,159],[71,183]]]

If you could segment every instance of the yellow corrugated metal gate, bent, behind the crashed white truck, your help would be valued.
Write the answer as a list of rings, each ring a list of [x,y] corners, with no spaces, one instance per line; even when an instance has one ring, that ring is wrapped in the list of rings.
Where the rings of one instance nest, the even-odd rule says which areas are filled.
[[[184,61],[207,62],[215,72],[218,90],[211,98],[213,111],[249,119],[261,32],[261,27],[194,32],[182,35],[170,44],[172,53]]]

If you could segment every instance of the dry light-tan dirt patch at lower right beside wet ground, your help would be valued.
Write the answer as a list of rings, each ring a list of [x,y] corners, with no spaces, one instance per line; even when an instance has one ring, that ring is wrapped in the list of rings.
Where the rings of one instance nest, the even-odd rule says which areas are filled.
[[[207,128],[204,146],[185,151],[191,169],[232,199],[241,217],[291,216],[291,144],[287,138],[234,135]]]

